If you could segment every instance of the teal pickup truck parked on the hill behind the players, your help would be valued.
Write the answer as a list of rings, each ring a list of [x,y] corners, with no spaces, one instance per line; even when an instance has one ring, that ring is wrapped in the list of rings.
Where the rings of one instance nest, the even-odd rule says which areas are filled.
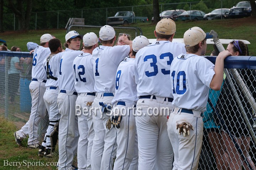
[[[148,22],[148,17],[135,17],[133,11],[119,11],[114,17],[107,18],[107,25],[121,25],[136,22]]]

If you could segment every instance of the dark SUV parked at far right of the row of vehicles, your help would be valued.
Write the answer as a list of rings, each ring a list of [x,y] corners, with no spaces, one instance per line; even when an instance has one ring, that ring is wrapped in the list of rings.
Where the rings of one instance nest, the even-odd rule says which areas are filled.
[[[239,17],[249,17],[251,16],[251,4],[249,1],[238,2],[236,6],[230,8],[229,17],[239,18]]]

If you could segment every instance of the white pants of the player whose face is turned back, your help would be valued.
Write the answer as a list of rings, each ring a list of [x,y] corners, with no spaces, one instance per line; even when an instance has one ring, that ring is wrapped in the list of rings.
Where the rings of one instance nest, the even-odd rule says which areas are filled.
[[[76,92],[75,92],[76,93]],[[75,115],[77,95],[73,91],[59,92],[57,103],[59,122],[59,170],[70,169],[78,146],[78,118]]]

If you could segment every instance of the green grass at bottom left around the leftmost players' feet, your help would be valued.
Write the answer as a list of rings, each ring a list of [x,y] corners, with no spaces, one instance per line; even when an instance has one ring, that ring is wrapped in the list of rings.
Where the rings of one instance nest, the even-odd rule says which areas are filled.
[[[0,122],[0,170],[56,169],[54,164],[57,165],[58,155],[50,159],[38,157],[37,149],[27,148],[27,139],[22,141],[24,147],[18,147],[13,135],[16,131],[15,125],[3,117],[0,117]]]

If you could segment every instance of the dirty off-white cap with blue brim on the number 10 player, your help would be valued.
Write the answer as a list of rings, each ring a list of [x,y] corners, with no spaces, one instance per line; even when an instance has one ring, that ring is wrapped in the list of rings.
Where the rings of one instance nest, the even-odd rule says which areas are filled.
[[[204,39],[213,38],[213,35],[209,34],[210,33],[205,33],[199,27],[192,27],[184,33],[183,41],[186,47],[193,47]]]

